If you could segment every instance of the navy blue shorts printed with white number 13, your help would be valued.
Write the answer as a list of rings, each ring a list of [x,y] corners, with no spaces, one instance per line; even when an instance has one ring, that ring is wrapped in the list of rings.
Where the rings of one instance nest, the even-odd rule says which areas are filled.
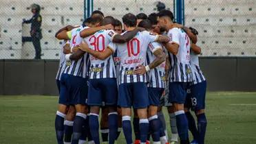
[[[205,108],[206,81],[189,86],[186,97],[186,108],[197,111]]]

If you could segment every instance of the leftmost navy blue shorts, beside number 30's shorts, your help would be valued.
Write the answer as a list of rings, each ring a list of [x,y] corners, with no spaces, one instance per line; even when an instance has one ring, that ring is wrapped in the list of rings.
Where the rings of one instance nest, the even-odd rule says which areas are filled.
[[[61,75],[61,93],[58,104],[76,105],[86,104],[88,87],[87,79],[74,75]]]

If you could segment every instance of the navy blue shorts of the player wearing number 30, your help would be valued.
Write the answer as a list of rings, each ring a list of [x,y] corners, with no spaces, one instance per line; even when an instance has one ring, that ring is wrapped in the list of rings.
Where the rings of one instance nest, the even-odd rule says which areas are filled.
[[[103,78],[88,80],[89,106],[116,106],[118,88],[116,78]]]

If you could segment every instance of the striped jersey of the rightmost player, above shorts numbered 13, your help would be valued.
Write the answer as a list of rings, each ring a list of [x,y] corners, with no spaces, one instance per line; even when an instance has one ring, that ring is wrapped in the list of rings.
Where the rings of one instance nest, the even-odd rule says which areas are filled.
[[[204,82],[206,79],[199,67],[199,58],[198,55],[191,51],[191,70],[193,73],[193,84],[198,84]]]

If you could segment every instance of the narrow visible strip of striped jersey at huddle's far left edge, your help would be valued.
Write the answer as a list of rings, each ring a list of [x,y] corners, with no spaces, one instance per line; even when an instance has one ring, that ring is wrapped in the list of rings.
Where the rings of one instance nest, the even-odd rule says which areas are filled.
[[[63,47],[67,43],[70,43],[70,40],[63,40],[62,45],[61,45],[61,58],[60,58],[60,64],[58,67],[58,72],[56,75],[56,80],[61,80],[61,75],[62,75],[63,71],[65,70],[66,59],[65,59],[65,54],[63,53]]]

